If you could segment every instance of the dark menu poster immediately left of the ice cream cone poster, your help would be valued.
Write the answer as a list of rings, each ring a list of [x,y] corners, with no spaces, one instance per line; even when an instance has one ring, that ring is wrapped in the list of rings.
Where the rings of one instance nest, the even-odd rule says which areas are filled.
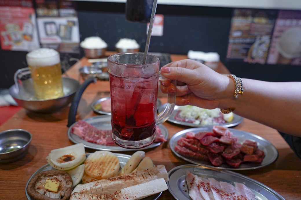
[[[264,64],[276,17],[275,10],[234,9],[227,60]]]

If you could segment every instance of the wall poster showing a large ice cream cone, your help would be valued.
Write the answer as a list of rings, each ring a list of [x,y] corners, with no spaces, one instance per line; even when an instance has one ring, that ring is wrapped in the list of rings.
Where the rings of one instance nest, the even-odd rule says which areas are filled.
[[[267,64],[301,65],[301,11],[279,11]]]

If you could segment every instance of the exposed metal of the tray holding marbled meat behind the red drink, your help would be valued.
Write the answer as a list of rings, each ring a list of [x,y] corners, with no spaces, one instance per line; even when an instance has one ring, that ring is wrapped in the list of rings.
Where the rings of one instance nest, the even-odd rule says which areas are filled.
[[[100,116],[90,117],[90,118],[84,119],[84,121],[88,122],[89,124],[95,126],[98,129],[103,129],[103,130],[112,129],[110,115],[100,115]],[[105,146],[105,145],[87,142],[87,141],[83,140],[82,138],[80,138],[79,136],[71,133],[72,127],[76,123],[72,124],[67,131],[68,138],[75,144],[83,143],[85,147],[87,147],[89,149],[95,149],[95,150],[108,150],[108,151],[113,151],[113,152],[137,151],[137,149],[126,149],[126,148],[119,147],[117,145],[116,146]],[[169,136],[168,130],[162,124],[160,124],[159,127],[161,129],[161,132],[162,132],[164,138],[167,140],[168,136]],[[147,147],[138,149],[138,150],[154,148],[154,147],[159,146],[160,144],[162,144],[162,142],[154,142],[153,144],[151,144]]]

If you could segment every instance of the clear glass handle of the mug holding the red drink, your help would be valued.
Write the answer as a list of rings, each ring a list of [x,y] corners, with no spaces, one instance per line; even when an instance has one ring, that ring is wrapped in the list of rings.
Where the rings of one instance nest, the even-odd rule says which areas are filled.
[[[161,73],[159,73],[159,80],[161,80],[161,79],[162,79]],[[177,86],[176,80],[170,80],[170,83]],[[162,124],[170,117],[170,115],[172,114],[172,112],[175,108],[175,97],[176,97],[176,92],[168,94],[167,104],[166,104],[165,109],[156,117],[156,125]]]

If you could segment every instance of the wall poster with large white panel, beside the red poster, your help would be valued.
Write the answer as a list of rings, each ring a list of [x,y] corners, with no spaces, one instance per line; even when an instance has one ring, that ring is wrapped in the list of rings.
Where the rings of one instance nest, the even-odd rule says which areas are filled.
[[[36,0],[36,6],[41,46],[61,53],[79,53],[76,2]]]

